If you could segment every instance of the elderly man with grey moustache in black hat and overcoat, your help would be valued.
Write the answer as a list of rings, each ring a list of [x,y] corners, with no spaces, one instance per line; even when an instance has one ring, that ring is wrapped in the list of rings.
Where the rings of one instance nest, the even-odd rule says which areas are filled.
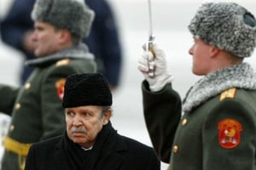
[[[66,132],[33,144],[26,170],[158,170],[154,150],[113,129],[112,94],[101,74],[67,77],[63,98]]]

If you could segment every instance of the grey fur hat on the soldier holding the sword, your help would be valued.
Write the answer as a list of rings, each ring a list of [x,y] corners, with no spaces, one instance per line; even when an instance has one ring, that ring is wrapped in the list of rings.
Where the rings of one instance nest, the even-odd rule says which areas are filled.
[[[204,42],[238,57],[249,57],[256,46],[253,14],[236,3],[203,3],[189,31]]]

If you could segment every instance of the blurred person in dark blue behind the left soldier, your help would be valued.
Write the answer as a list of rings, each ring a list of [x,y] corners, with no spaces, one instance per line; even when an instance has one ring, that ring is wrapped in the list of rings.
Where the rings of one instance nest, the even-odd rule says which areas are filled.
[[[15,0],[9,13],[0,20],[0,34],[3,42],[18,49],[25,59],[34,59],[30,13],[36,0]],[[122,70],[122,47],[119,41],[114,10],[108,0],[84,0],[95,11],[95,20],[90,35],[83,42],[95,55],[97,72],[108,78],[112,89],[118,88]],[[23,61],[23,59],[22,59]],[[32,72],[32,67],[22,63],[20,82],[23,84]]]

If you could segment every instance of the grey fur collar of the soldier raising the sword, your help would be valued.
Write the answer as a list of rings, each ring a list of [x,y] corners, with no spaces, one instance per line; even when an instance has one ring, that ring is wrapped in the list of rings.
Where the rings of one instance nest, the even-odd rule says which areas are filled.
[[[256,73],[247,63],[233,65],[208,74],[189,89],[183,100],[183,111],[191,111],[228,88],[256,90]]]

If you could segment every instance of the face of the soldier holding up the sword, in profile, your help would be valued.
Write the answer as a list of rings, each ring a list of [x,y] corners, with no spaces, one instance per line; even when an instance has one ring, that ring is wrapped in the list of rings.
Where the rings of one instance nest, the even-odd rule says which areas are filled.
[[[211,71],[212,46],[194,37],[194,44],[189,49],[189,54],[193,57],[192,72],[195,75],[203,76]]]

